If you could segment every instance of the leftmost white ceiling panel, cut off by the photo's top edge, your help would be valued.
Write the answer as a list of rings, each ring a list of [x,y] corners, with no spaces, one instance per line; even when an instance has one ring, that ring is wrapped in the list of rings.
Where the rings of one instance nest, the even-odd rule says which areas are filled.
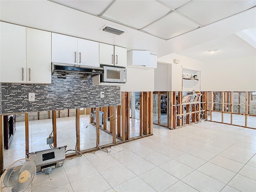
[[[82,12],[99,15],[103,12],[112,0],[49,0]]]

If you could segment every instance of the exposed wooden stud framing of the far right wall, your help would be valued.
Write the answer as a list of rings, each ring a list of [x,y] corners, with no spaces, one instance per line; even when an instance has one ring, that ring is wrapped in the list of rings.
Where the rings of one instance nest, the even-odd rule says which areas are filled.
[[[208,92],[210,121],[256,128],[256,95],[253,92]]]

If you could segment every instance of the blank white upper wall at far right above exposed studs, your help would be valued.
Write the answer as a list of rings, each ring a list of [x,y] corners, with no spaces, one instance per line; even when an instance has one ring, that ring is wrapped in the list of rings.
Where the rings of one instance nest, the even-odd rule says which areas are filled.
[[[256,91],[256,56],[206,63],[201,70],[203,91]]]

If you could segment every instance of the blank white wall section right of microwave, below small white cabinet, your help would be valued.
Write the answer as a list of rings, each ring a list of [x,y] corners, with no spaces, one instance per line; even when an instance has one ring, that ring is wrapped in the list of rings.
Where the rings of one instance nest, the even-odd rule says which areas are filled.
[[[127,83],[121,91],[154,91],[154,69],[136,69],[127,67]]]

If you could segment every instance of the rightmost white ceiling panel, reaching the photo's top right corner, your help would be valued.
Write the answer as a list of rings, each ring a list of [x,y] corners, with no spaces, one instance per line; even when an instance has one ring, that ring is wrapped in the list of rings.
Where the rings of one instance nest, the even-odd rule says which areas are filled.
[[[250,0],[195,0],[181,7],[178,12],[205,26],[255,5],[256,1]]]

